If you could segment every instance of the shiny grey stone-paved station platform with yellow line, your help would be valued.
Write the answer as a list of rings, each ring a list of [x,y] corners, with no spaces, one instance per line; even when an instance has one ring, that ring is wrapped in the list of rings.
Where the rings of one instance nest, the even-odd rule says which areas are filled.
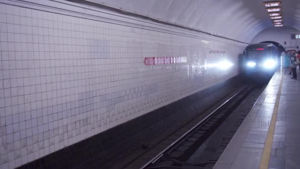
[[[288,73],[276,71],[213,169],[300,169],[300,80]]]

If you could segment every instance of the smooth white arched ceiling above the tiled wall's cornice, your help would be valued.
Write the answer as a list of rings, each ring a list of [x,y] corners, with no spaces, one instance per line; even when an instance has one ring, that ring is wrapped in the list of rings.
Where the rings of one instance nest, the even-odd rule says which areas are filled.
[[[270,0],[88,0],[242,42],[273,27]],[[284,27],[300,28],[300,0],[281,0]],[[299,9],[297,9],[299,7]],[[299,29],[298,29],[299,30]]]

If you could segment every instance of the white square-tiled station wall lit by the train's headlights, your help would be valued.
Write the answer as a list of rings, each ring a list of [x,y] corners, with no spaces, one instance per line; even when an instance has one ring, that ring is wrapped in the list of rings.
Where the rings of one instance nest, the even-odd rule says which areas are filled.
[[[209,54],[210,50],[225,54]],[[0,4],[0,169],[237,75],[243,46]],[[144,57],[188,63],[145,66]],[[207,67],[224,60],[234,64]],[[206,64],[205,64],[206,63]]]

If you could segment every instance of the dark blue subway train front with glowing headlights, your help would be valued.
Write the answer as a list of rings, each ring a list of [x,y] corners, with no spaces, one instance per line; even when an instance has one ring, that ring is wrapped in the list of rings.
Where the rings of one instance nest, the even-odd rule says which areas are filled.
[[[271,76],[279,65],[279,55],[279,49],[274,44],[250,44],[244,50],[242,73],[255,77]]]

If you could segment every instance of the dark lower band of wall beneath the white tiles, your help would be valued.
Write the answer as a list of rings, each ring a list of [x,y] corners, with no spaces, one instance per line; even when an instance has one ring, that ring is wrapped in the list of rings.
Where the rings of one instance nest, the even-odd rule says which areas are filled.
[[[204,111],[237,84],[237,77],[231,78],[18,169],[107,169],[142,143]]]

